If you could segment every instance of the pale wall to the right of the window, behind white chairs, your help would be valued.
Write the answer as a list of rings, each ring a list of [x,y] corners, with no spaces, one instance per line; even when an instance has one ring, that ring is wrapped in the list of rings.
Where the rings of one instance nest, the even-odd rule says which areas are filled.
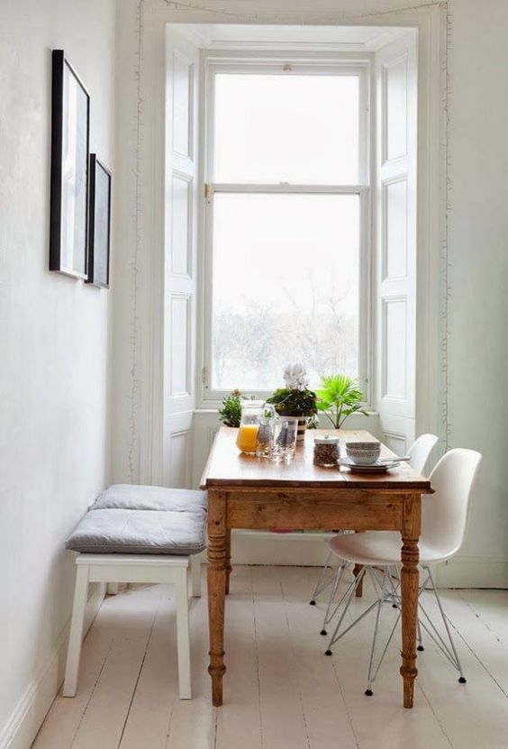
[[[508,3],[454,0],[449,40],[449,446],[484,453],[460,569],[508,587]]]

